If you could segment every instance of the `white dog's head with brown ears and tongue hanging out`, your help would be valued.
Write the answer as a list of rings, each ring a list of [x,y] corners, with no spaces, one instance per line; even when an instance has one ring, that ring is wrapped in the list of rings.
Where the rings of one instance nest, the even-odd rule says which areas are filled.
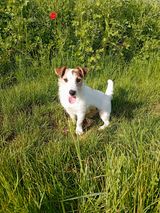
[[[78,93],[82,88],[87,69],[82,67],[77,67],[75,69],[60,67],[55,69],[55,73],[59,77],[59,85],[65,88],[68,94],[69,103],[75,103]]]

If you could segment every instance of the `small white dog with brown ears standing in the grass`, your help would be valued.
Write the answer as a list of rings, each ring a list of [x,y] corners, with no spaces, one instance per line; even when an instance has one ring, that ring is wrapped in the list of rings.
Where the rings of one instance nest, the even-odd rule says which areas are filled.
[[[61,105],[73,121],[76,121],[76,134],[83,134],[82,124],[89,109],[95,107],[104,124],[103,130],[109,125],[111,100],[113,95],[113,81],[108,80],[105,93],[86,86],[83,82],[87,69],[77,67],[70,69],[65,66],[55,69],[59,77],[59,99]]]

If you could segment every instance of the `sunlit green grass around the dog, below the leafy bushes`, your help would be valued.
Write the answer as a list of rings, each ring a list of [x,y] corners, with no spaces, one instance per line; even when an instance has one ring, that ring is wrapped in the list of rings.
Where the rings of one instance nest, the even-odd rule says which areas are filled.
[[[88,73],[88,85],[105,91],[111,78],[115,90],[110,126],[99,132],[96,117],[82,137],[53,67],[1,80],[0,212],[160,212],[159,58]]]

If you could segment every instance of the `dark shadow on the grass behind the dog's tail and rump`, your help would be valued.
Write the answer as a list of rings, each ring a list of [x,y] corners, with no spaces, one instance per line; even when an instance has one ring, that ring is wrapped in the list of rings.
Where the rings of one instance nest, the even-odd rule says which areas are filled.
[[[113,116],[132,120],[134,111],[142,107],[142,102],[128,100],[128,93],[124,88],[120,88],[118,93],[114,95],[112,101]]]

